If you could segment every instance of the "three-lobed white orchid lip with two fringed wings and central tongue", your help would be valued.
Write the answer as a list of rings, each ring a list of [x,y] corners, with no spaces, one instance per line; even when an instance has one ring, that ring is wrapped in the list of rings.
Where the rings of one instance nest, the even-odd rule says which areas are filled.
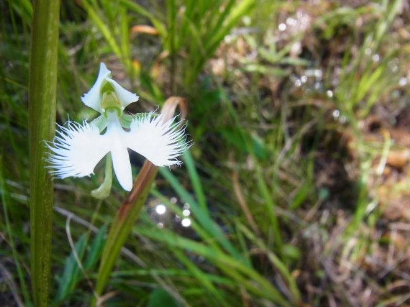
[[[152,113],[136,116],[130,131],[125,131],[116,112],[107,112],[107,131],[100,135],[93,123],[83,125],[68,122],[61,127],[52,142],[46,146],[49,168],[58,178],[84,177],[93,173],[98,161],[111,151],[114,171],[118,182],[127,191],[132,188],[132,171],[127,147],[140,153],[157,166],[179,165],[176,158],[191,144],[186,141],[185,128],[178,128],[175,118],[164,122],[162,115]]]

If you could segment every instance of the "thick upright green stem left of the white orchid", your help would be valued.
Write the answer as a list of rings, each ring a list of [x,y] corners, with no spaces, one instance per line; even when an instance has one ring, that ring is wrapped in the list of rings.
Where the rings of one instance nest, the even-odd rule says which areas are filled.
[[[37,307],[48,306],[53,181],[43,140],[54,136],[59,1],[35,0],[29,76],[31,280]]]

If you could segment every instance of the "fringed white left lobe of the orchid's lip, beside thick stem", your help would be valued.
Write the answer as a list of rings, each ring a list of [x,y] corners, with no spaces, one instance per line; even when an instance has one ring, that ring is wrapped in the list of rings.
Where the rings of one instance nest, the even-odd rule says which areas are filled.
[[[109,151],[109,143],[99,134],[93,124],[80,125],[69,121],[67,128],[60,126],[57,136],[46,143],[52,153],[48,153],[48,167],[58,178],[84,177],[94,173],[98,161]]]

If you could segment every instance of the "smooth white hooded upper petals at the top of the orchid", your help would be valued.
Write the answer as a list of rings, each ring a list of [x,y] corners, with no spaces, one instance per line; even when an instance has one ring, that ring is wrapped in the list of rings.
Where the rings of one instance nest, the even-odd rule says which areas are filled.
[[[93,87],[91,87],[91,90],[88,93],[84,94],[84,97],[81,97],[81,100],[84,102],[84,104],[103,114],[104,110],[101,107],[103,93],[101,92],[101,90],[103,90],[104,85],[106,85],[107,83],[110,83],[112,88],[114,89],[114,94],[116,95],[118,101],[121,103],[122,109],[124,109],[130,103],[138,100],[139,97],[136,94],[127,91],[111,78],[111,71],[107,69],[106,64],[101,62],[97,80],[95,81]]]

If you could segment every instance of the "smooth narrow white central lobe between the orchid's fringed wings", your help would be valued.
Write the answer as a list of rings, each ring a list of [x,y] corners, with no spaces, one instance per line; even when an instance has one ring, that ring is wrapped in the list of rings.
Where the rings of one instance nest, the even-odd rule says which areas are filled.
[[[124,190],[131,191],[132,188],[132,171],[130,156],[128,155],[127,145],[124,142],[128,134],[122,129],[116,113],[107,113],[108,125],[107,132],[104,135],[105,140],[109,143],[115,176]]]

